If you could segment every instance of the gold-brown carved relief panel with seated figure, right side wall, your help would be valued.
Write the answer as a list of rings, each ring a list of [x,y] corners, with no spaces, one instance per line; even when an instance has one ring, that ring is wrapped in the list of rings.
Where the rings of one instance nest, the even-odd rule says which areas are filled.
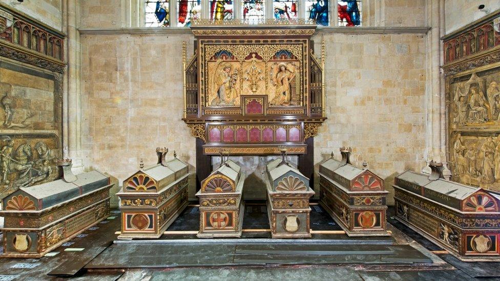
[[[500,192],[500,63],[448,79],[452,179]]]

